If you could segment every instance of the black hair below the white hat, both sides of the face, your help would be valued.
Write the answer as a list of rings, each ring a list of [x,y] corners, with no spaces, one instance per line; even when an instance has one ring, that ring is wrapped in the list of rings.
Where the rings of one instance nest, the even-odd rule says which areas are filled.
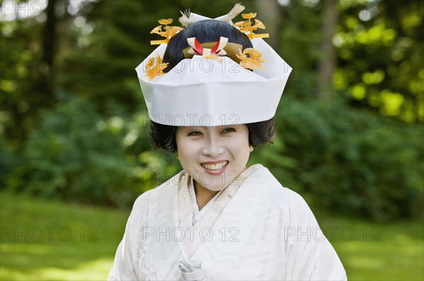
[[[272,144],[276,135],[274,118],[266,121],[245,124],[249,130],[249,145],[256,147],[260,144]],[[165,149],[170,152],[177,151],[175,132],[177,126],[162,125],[151,121],[148,136],[155,149]]]

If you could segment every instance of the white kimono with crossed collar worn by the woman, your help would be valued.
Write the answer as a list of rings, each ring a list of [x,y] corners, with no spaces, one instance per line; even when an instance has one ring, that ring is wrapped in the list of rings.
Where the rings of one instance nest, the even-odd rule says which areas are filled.
[[[267,168],[245,170],[201,216],[191,193],[182,171],[139,196],[109,280],[182,280],[182,260],[208,281],[347,279],[309,206]]]

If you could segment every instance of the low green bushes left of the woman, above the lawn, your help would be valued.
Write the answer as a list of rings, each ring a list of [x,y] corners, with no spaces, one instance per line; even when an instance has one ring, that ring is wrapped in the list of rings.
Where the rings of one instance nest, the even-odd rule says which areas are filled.
[[[146,117],[105,118],[78,97],[63,101],[55,111],[37,115],[37,124],[28,120],[33,130],[19,165],[5,151],[5,185],[47,198],[131,206],[136,196],[166,180],[158,178],[158,170],[172,163],[147,151]],[[145,152],[137,159],[134,148]]]

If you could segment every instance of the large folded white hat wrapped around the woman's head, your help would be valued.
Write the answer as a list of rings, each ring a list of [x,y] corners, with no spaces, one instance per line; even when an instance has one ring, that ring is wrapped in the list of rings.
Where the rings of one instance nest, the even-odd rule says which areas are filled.
[[[174,126],[234,125],[271,119],[292,68],[263,39],[254,38],[252,44],[265,59],[262,69],[248,70],[227,56],[194,56],[149,80],[146,63],[163,56],[167,45],[158,46],[136,68],[149,118]]]

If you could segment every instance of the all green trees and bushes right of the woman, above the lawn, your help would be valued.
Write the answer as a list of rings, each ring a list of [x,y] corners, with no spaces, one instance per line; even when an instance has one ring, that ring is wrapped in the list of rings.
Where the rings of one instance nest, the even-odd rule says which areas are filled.
[[[331,58],[318,48],[323,16],[335,16],[326,3],[290,1],[282,10],[280,51],[293,72],[276,115],[277,147],[256,149],[254,159],[320,208],[379,220],[420,215],[424,6],[338,1]],[[323,68],[333,72],[327,99],[318,94]]]

